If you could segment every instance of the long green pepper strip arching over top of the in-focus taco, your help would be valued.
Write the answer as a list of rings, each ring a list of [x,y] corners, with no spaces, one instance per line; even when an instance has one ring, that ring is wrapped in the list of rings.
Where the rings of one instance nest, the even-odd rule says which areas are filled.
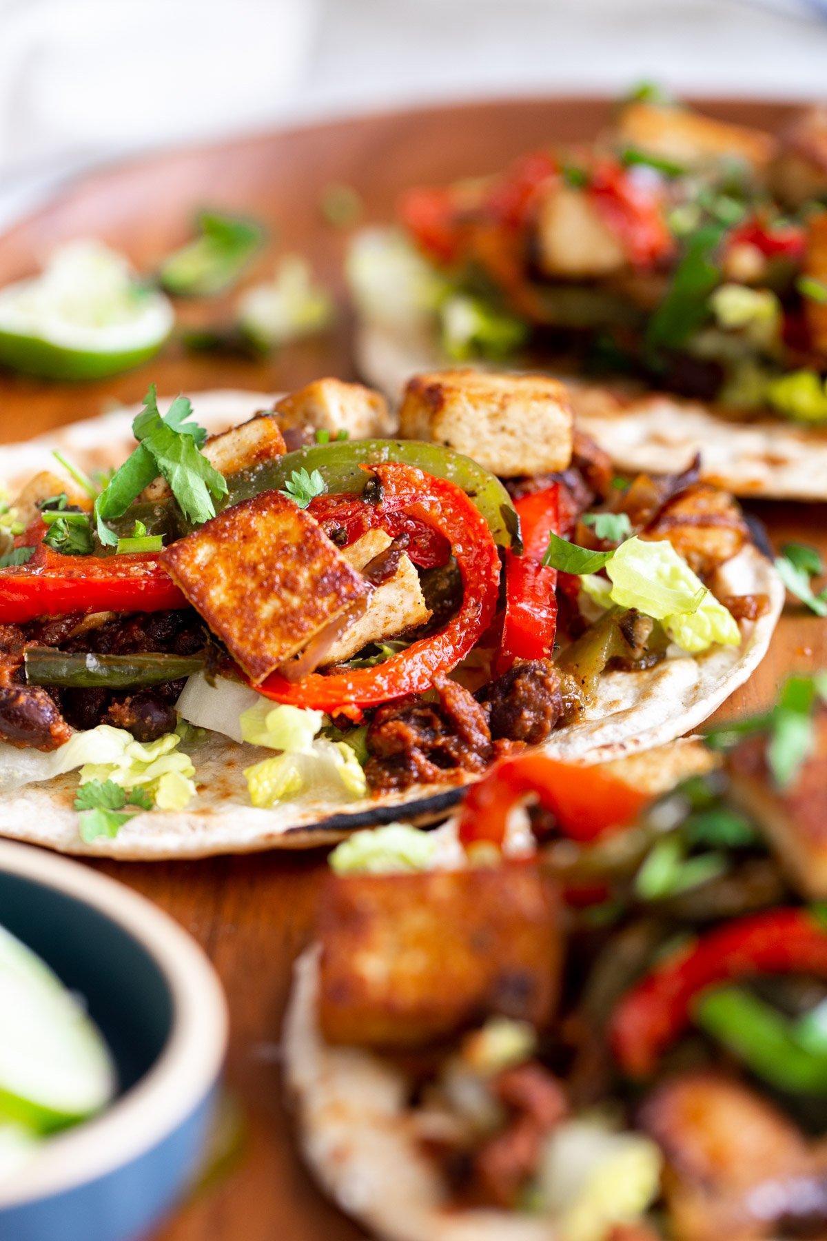
[[[319,470],[327,493],[361,494],[371,478],[362,467],[391,462],[415,465],[425,474],[443,478],[461,488],[485,517],[493,541],[516,552],[522,550],[517,510],[500,479],[489,474],[470,457],[464,457],[441,444],[427,444],[418,439],[346,439],[329,444],[309,444],[294,453],[228,475],[228,493],[223,498],[222,508],[227,509],[241,500],[249,500],[260,491],[281,491],[290,482],[294,470],[299,469],[306,469],[309,474]]]

